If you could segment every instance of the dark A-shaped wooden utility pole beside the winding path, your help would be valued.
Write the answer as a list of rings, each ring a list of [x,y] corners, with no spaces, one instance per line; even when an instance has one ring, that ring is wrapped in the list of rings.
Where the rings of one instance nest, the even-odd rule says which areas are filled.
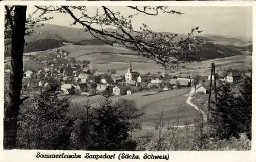
[[[215,65],[214,65],[214,63],[211,64],[207,120],[209,120],[209,117],[210,117],[209,113],[210,113],[210,102],[211,102],[212,78],[214,78],[215,104],[217,104],[217,88],[216,88],[216,75],[215,75]]]

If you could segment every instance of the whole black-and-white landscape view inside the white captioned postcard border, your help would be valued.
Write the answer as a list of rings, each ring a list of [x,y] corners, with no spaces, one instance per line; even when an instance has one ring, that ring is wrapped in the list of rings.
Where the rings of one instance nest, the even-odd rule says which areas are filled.
[[[3,5],[4,150],[251,150],[252,5],[73,5]]]

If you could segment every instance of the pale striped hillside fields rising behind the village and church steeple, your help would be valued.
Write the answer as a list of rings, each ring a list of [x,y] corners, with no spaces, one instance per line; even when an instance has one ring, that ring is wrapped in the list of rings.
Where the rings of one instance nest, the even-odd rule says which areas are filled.
[[[155,64],[152,60],[138,55],[137,52],[126,49],[121,45],[65,45],[59,49],[70,52],[69,58],[89,60],[91,65],[96,67],[99,72],[106,72],[107,69],[116,69],[118,74],[124,74],[127,71],[129,62],[132,64],[133,71],[140,73],[164,72],[161,65]]]

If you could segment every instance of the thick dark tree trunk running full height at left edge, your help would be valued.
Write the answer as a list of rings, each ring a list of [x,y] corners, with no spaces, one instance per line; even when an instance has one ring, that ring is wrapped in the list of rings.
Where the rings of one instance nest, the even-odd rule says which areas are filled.
[[[23,77],[23,48],[27,6],[15,6],[11,42],[10,101],[4,116],[4,149],[15,149]]]

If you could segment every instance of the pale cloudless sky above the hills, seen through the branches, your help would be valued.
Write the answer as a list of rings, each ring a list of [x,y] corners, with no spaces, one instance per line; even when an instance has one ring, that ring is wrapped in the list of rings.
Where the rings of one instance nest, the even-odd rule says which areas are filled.
[[[96,8],[102,12],[102,8],[96,6],[87,7],[88,15],[95,15]],[[125,6],[109,6],[113,11],[120,11],[122,15],[136,14],[138,12]],[[203,34],[214,34],[224,36],[247,36],[252,37],[252,7],[211,7],[211,6],[180,6],[169,7],[169,9],[184,12],[183,15],[176,14],[159,14],[157,16],[148,16],[143,13],[132,19],[135,30],[138,30],[142,23],[147,24],[153,31],[157,32],[174,32],[188,33],[192,27],[198,26],[204,30]],[[28,6],[27,13],[35,10],[33,6]],[[79,12],[74,12],[79,16]],[[70,26],[74,21],[70,15],[51,13],[49,16],[54,19],[46,23],[61,26]],[[75,27],[81,28],[76,25]]]

